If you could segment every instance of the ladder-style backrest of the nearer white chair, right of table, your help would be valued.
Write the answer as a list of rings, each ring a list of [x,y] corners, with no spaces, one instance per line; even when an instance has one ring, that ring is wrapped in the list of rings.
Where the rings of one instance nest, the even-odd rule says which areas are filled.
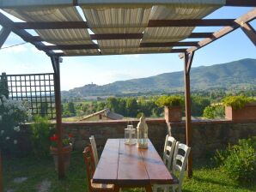
[[[185,144],[176,142],[175,150],[174,150],[174,163],[173,163],[173,173],[175,171],[180,172],[179,177],[179,188],[181,189],[181,185],[184,178],[184,172],[186,169],[187,159],[189,153],[191,151],[191,147],[187,147]],[[178,190],[180,191],[180,190]]]

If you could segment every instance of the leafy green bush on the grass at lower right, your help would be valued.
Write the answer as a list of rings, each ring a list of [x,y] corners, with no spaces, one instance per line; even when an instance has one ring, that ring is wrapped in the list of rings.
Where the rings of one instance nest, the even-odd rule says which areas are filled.
[[[217,152],[216,164],[239,183],[250,183],[256,179],[256,137],[240,140],[226,151]]]

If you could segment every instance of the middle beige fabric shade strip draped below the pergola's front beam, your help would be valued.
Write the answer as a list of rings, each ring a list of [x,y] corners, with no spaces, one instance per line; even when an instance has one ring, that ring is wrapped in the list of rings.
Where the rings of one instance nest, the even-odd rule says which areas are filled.
[[[148,25],[151,7],[104,7],[103,4],[83,6],[82,10],[94,33],[142,33]]]

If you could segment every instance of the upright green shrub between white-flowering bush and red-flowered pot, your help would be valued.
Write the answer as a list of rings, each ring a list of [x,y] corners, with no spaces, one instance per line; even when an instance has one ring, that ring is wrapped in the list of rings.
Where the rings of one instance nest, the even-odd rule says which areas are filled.
[[[49,155],[52,127],[46,117],[34,117],[34,123],[31,124],[31,141],[33,153],[36,157],[46,157]]]

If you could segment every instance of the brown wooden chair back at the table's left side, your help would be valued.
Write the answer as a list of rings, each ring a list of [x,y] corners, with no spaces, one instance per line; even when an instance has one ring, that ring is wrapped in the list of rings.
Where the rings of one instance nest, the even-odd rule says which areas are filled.
[[[86,165],[88,190],[92,191],[91,179],[93,178],[94,171],[95,171],[94,154],[92,151],[92,146],[89,145],[88,147],[85,147],[82,154],[83,154],[83,159]]]

